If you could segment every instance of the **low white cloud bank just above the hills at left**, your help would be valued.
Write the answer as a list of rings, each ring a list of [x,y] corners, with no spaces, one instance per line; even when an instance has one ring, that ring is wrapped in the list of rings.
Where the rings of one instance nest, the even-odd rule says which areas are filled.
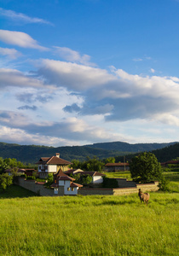
[[[99,142],[119,139],[119,135],[106,131],[99,126],[88,125],[83,119],[66,118],[59,122],[36,122],[26,115],[14,111],[0,111],[0,125],[9,129],[21,130],[32,136],[60,137],[72,142]],[[120,137],[121,138],[121,137]]]

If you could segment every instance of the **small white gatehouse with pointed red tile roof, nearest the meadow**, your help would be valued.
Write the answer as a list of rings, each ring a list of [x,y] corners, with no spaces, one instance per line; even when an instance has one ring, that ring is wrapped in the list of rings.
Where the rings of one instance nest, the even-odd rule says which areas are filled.
[[[61,187],[64,189],[64,195],[78,195],[78,189],[82,188],[83,185],[73,183],[74,180],[74,178],[67,176],[60,169],[59,172],[54,175],[54,183],[51,185],[51,188],[54,189],[56,195],[58,194],[58,189]]]

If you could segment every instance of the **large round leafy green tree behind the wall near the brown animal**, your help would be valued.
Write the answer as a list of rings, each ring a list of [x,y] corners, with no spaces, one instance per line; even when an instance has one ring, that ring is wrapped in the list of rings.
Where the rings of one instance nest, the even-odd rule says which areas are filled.
[[[154,154],[144,152],[130,161],[130,174],[136,182],[150,183],[162,178],[162,169]]]

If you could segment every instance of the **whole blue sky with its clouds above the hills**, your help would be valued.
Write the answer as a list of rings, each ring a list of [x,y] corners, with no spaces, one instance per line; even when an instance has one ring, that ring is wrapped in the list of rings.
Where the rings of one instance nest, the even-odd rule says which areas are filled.
[[[179,0],[0,0],[0,142],[179,142]]]

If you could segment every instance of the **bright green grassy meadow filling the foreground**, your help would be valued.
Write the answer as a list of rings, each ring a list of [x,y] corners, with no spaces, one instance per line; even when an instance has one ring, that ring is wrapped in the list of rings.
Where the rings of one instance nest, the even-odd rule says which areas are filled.
[[[0,255],[178,255],[179,194],[150,195],[2,198]]]

